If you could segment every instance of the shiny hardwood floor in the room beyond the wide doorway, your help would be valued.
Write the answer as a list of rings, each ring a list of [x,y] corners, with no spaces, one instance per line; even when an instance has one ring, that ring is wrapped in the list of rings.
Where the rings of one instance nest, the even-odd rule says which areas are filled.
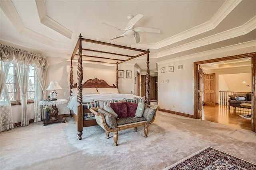
[[[202,119],[212,121],[240,129],[251,130],[251,120],[240,117],[239,115],[251,114],[251,109],[216,105],[216,107],[203,106]]]

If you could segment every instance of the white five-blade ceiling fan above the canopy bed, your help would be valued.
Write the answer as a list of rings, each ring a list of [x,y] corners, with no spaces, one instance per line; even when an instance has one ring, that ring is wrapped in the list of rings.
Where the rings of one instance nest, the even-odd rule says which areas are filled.
[[[135,27],[134,28],[134,25],[136,24],[136,22],[138,22],[138,20],[140,20],[142,17],[143,17],[142,14],[137,14],[136,16],[127,16],[129,22],[127,23],[125,29],[120,29],[118,27],[114,27],[114,26],[109,25],[109,24],[104,23],[104,22],[102,22],[102,24],[124,32],[122,35],[120,35],[118,37],[115,37],[115,38],[112,38],[110,40],[117,39],[117,38],[120,38],[120,37],[124,37],[126,35],[133,35],[136,39],[136,43],[139,43],[140,42],[140,35],[139,35],[138,32],[160,33],[159,29],[154,29],[154,28],[148,28],[148,27]]]

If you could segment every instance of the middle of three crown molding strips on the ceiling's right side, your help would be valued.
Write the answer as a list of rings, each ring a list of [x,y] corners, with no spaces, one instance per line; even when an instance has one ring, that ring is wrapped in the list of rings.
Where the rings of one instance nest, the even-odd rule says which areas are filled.
[[[244,25],[157,53],[157,58],[245,35],[256,28],[256,16]]]

